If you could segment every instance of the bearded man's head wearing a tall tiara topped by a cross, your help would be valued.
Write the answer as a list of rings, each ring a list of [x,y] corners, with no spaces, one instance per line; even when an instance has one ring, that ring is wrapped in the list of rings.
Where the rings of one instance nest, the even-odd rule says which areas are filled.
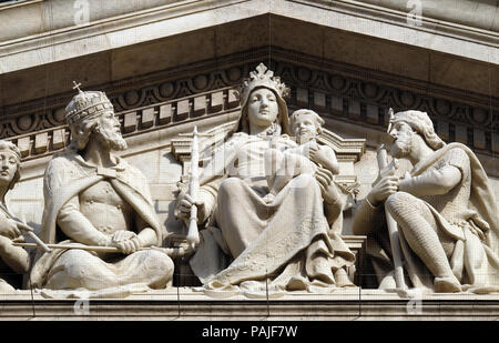
[[[83,150],[89,139],[95,139],[110,144],[112,150],[126,149],[126,142],[121,135],[120,121],[114,117],[114,108],[104,92],[83,92],[77,84],[79,93],[65,108],[65,119],[71,130],[72,144]]]

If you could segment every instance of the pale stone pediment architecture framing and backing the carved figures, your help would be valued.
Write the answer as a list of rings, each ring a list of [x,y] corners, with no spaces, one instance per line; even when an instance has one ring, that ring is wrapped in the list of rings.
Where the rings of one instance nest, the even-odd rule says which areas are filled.
[[[73,80],[82,81],[84,89],[102,85],[122,112],[118,114],[129,149],[119,155],[147,179],[159,224],[174,233],[166,242],[173,246],[185,235],[184,223],[174,213],[177,183],[189,181],[191,170],[191,145],[181,147],[175,138],[192,131],[195,123],[200,132],[214,133],[214,141],[226,139],[242,110],[233,87],[259,61],[268,61],[292,88],[289,113],[306,107],[325,120],[318,142],[330,147],[338,159],[335,181],[345,203],[342,239],[361,260],[346,271],[357,285],[363,274],[373,271],[366,269],[364,252],[359,255],[366,248],[363,240],[354,242],[348,235],[359,201],[378,178],[376,147],[390,142],[385,134],[390,105],[397,111],[428,112],[440,138],[467,144],[489,176],[499,175],[495,1],[460,0],[452,7],[424,1],[422,28],[409,23],[409,9],[399,1],[146,0],[139,7],[88,2],[91,22],[79,27],[72,3],[0,6],[0,29],[7,28],[0,30],[6,33],[0,47],[0,130],[24,159],[22,179],[7,198],[11,210],[37,233],[42,226],[44,169],[52,154],[69,143],[69,129],[62,125]],[[63,14],[54,17],[57,12]],[[365,147],[359,138],[366,139]],[[395,174],[404,176],[411,169],[408,159],[400,159]],[[498,179],[489,181],[499,199]],[[177,271],[189,273],[183,266]],[[378,290],[336,290],[314,299],[299,292],[272,294],[282,297],[266,304],[258,292],[248,296],[215,292],[212,295],[222,299],[214,300],[192,291],[167,289],[134,293],[126,301],[92,300],[89,316],[74,313],[72,301],[49,301],[35,292],[31,303],[29,291],[21,291],[6,296],[9,312],[0,317],[24,319],[32,311],[35,319],[131,314],[262,319],[268,313],[269,319],[327,320],[497,316],[497,294],[424,294],[421,314],[408,307],[407,299]],[[419,303],[415,304],[418,310]]]

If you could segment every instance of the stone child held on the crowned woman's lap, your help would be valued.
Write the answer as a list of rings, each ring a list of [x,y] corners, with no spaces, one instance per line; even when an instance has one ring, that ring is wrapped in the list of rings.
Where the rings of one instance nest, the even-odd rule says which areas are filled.
[[[319,145],[317,135],[322,133],[324,120],[312,110],[297,110],[291,120],[292,132],[295,132],[297,148],[284,152],[271,149],[265,153],[265,169],[269,193],[264,196],[272,203],[278,192],[296,175],[315,174],[322,167],[333,174],[338,174],[339,164],[334,150],[328,145]],[[308,159],[309,158],[309,159]],[[339,203],[339,193],[335,196]]]

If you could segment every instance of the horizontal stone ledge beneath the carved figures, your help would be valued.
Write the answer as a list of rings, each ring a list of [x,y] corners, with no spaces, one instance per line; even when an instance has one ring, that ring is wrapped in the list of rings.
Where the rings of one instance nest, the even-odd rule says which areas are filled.
[[[31,297],[30,291],[0,294],[0,320],[497,320],[497,295],[431,294],[418,303],[397,293],[358,287],[330,294],[288,293],[278,299],[235,295],[213,299],[189,287],[132,294],[124,300],[90,300],[85,313],[77,300]],[[299,324],[298,324],[299,325]]]

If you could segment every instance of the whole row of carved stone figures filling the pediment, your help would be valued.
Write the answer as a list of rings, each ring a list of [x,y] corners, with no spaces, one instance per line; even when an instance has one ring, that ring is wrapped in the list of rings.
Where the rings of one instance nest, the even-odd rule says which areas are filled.
[[[122,297],[164,289],[175,253],[161,248],[166,231],[157,223],[147,181],[113,154],[128,147],[105,94],[78,91],[65,113],[72,142],[53,157],[44,175],[40,239],[48,244],[37,241],[43,250],[31,284],[55,296],[91,291],[91,297]],[[197,196],[179,195],[175,215],[187,220],[196,213],[205,228],[190,264],[207,294],[264,296],[269,291],[272,296],[354,286],[346,269],[355,255],[340,236],[343,202],[334,181],[339,164],[334,150],[318,143],[324,120],[317,113],[298,110],[288,120],[287,92],[259,64],[240,89],[242,115],[234,133],[198,165]],[[377,286],[400,286],[401,262],[404,285],[499,292],[497,203],[473,152],[444,143],[420,111],[393,114],[388,133],[391,163],[381,163],[353,226],[355,234],[368,235]],[[395,175],[398,159],[414,167],[404,178]],[[0,292],[14,291],[6,275],[30,266],[20,230],[32,235],[32,229],[4,201],[19,180],[20,161],[19,149],[0,141]],[[389,220],[396,244],[389,240]]]

